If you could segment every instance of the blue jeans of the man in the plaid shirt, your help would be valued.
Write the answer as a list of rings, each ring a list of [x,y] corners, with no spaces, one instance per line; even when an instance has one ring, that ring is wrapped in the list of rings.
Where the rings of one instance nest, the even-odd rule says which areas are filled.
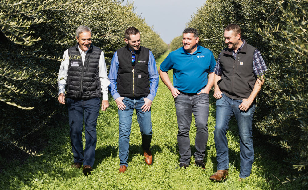
[[[241,169],[240,177],[246,178],[251,173],[254,159],[252,141],[252,118],[255,104],[250,106],[247,111],[241,111],[238,106],[242,100],[234,100],[222,94],[222,98],[216,101],[216,125],[214,131],[217,170],[228,169],[228,140],[227,130],[231,117],[234,115],[237,120],[238,132],[240,136],[240,158]]]

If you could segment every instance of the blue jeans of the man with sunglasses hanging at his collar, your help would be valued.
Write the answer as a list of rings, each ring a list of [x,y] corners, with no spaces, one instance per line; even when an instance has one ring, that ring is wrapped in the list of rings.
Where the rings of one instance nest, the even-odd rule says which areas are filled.
[[[142,149],[148,150],[152,139],[152,121],[151,110],[143,112],[141,107],[144,105],[144,97],[128,98],[124,97],[122,100],[126,105],[123,110],[118,109],[119,114],[119,158],[120,166],[127,164],[128,150],[129,150],[129,135],[132,128],[132,116],[134,109],[137,114],[137,121],[141,132]]]

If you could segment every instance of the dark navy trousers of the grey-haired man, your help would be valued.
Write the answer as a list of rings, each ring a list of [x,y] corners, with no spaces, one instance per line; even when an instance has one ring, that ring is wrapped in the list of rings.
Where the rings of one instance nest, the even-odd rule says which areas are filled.
[[[70,137],[75,163],[94,164],[96,148],[96,121],[99,115],[100,98],[73,100],[67,98]],[[86,147],[83,155],[82,130],[83,118]]]

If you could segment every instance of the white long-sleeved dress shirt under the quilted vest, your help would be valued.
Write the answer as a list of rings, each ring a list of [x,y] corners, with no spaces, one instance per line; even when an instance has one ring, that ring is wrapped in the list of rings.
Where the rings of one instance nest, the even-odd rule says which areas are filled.
[[[84,60],[85,60],[88,50],[82,51],[79,46],[78,46],[78,50],[81,54],[82,64],[84,65]],[[59,75],[58,75],[58,89],[59,89],[58,95],[60,93],[64,94],[65,92],[65,85],[66,85],[66,80],[67,80],[67,70],[68,70],[68,64],[69,64],[68,49],[64,51],[63,59],[64,60],[61,62]],[[99,68],[100,84],[102,87],[103,100],[108,100],[108,86],[110,84],[110,81],[107,75],[107,68],[106,68],[105,56],[104,56],[103,51],[99,57],[98,68]],[[63,79],[60,80],[61,78]]]

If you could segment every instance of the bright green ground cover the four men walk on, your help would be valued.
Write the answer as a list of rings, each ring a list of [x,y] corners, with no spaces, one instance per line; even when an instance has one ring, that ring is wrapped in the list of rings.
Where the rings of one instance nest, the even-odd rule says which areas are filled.
[[[157,59],[157,66],[168,55]],[[172,80],[172,71],[169,71]],[[239,182],[239,138],[235,120],[231,120],[227,133],[229,143],[229,177],[224,182],[209,180],[216,172],[216,150],[214,144],[215,99],[210,94],[209,140],[204,161],[206,169],[196,167],[192,156],[190,167],[179,165],[177,145],[177,120],[173,97],[168,88],[159,83],[157,95],[152,104],[153,137],[151,150],[153,164],[146,165],[141,148],[141,134],[136,113],[133,115],[128,169],[118,174],[118,113],[112,97],[110,107],[100,112],[97,124],[97,146],[94,171],[88,177],[81,169],[72,169],[73,162],[69,139],[69,126],[63,124],[48,133],[48,145],[41,157],[29,158],[24,164],[10,162],[0,173],[3,189],[294,189],[297,183],[282,184],[288,175],[288,166],[264,140],[254,136],[255,160],[250,177]],[[254,131],[255,132],[255,131]],[[257,133],[254,133],[257,134]],[[191,124],[190,141],[192,153],[196,127]],[[83,142],[85,143],[85,142]],[[2,164],[5,160],[0,158]]]

